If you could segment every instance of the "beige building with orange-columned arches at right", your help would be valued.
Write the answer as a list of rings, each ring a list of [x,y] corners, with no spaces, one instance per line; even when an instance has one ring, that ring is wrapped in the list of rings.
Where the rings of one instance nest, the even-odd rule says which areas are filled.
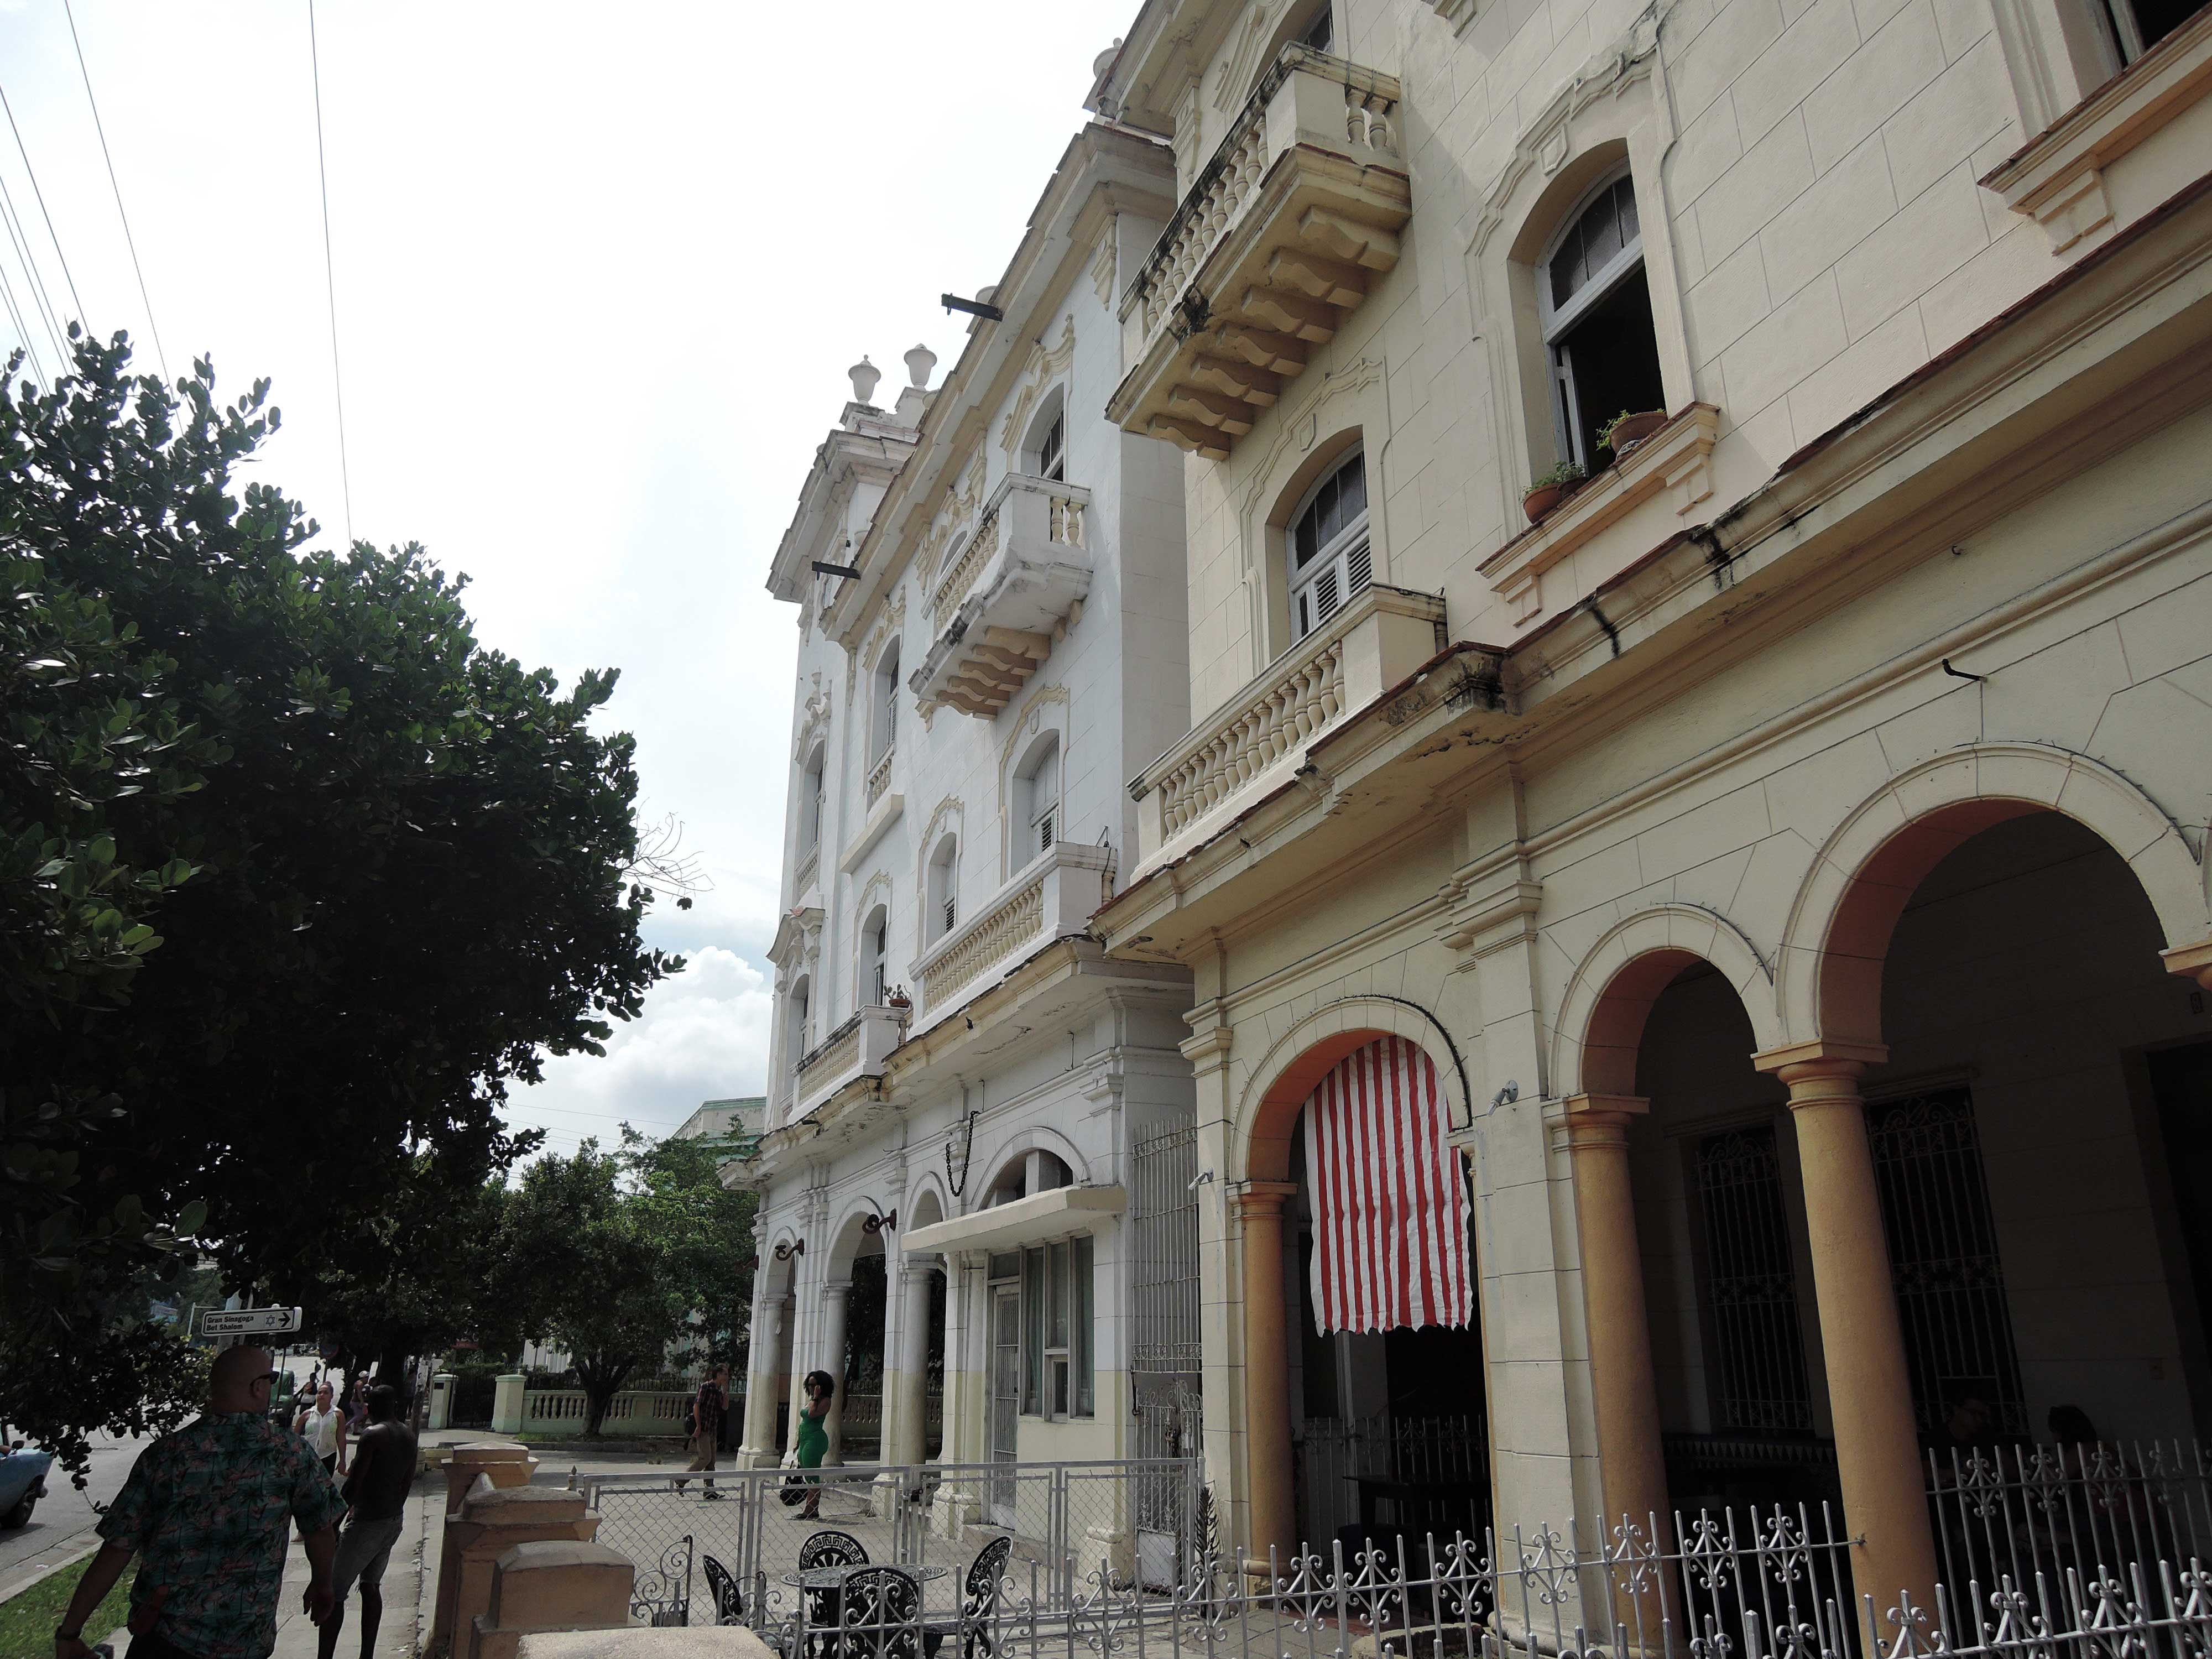
[[[1323,1425],[1455,1409],[1502,1526],[1827,1498],[1924,1601],[1962,1409],[2212,1418],[2208,91],[2148,0],[1150,0],[1104,60],[1175,153],[1108,416],[1186,451],[1190,723],[1091,929],[1192,975],[1245,1548],[1345,1517]],[[1420,1340],[1310,1303],[1301,1115],[1385,1035],[1473,1186]]]

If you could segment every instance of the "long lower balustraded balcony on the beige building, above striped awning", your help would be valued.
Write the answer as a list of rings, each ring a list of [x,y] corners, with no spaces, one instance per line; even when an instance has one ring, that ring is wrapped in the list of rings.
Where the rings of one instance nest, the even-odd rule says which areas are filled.
[[[1179,843],[1203,841],[1290,783],[1314,739],[1442,648],[1440,597],[1363,591],[1137,774],[1128,785],[1137,799],[1133,874],[1141,876]]]

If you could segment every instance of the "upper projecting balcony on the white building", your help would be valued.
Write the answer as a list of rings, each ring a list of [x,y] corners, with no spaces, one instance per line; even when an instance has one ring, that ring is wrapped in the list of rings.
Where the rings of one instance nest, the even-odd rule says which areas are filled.
[[[1037,672],[1091,593],[1091,491],[1009,473],[929,591],[938,630],[907,686],[922,712],[991,719]]]

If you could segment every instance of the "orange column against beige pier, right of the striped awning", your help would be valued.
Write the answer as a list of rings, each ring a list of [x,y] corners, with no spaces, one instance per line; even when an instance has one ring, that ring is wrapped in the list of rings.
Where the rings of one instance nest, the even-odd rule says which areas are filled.
[[[1650,1110],[1635,1095],[1573,1095],[1559,1135],[1575,1168],[1575,1234],[1582,1245],[1582,1305],[1590,1340],[1606,1537],[1621,1520],[1652,1540],[1666,1526],[1666,1451],[1659,1389],[1644,1307],[1644,1250],[1628,1186],[1628,1124]]]

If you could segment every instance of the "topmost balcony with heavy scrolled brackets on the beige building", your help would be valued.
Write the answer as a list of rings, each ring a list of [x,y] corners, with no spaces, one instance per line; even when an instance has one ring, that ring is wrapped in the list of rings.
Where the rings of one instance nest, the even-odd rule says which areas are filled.
[[[1285,46],[1121,299],[1135,367],[1108,420],[1228,460],[1398,263],[1411,210],[1398,82]]]

